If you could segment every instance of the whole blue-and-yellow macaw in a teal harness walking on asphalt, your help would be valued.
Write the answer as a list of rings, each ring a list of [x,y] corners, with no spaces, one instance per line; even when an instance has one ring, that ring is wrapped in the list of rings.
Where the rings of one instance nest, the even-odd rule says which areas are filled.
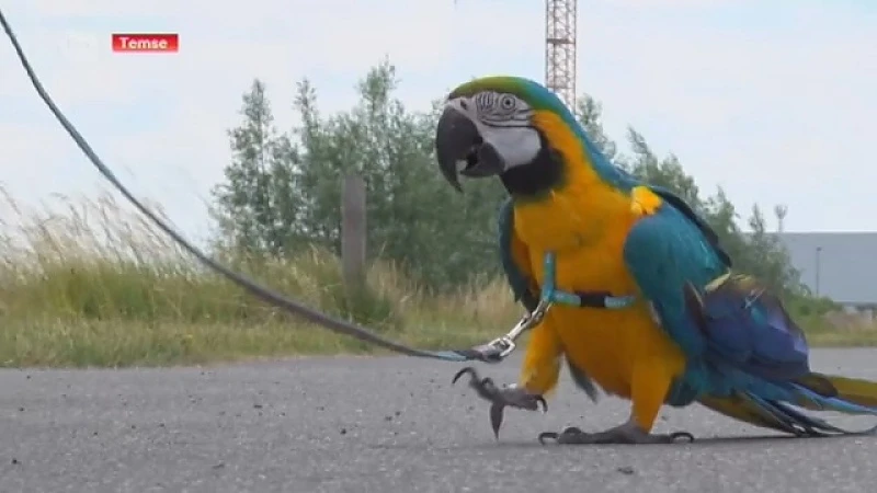
[[[499,176],[510,195],[500,246],[514,295],[529,310],[546,293],[555,301],[531,331],[517,385],[460,371],[493,403],[494,433],[504,406],[544,405],[563,359],[592,399],[599,386],[631,411],[605,432],[548,434],[561,444],[693,439],[652,433],[664,404],[699,402],[807,436],[865,432],[806,410],[877,415],[877,383],[811,371],[805,335],[777,297],[731,271],[682,199],[611,164],[542,84],[489,77],[459,85],[435,145],[456,188],[460,175]]]

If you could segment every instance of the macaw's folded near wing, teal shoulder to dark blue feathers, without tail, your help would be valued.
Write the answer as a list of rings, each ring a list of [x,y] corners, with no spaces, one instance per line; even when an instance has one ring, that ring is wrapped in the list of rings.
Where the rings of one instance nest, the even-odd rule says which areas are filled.
[[[630,274],[663,329],[690,360],[709,367],[714,377],[720,374],[722,385],[807,375],[804,333],[775,296],[744,276],[707,289],[729,274],[729,263],[691,214],[665,202],[633,227],[625,243]]]

